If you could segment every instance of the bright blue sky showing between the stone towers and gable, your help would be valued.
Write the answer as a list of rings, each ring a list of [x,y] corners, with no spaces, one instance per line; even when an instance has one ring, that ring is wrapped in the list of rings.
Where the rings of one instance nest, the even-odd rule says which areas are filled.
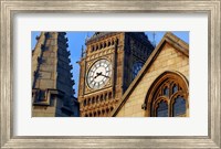
[[[149,39],[150,42],[154,43],[154,32],[145,32]],[[155,43],[156,45],[160,42],[162,36],[166,32],[164,31],[157,31],[155,32]],[[189,43],[189,32],[188,31],[177,31],[172,32],[178,38],[182,39],[185,42]],[[92,36],[94,32],[66,32],[66,38],[69,39],[69,51],[71,52],[71,63],[73,65],[73,79],[75,81],[75,85],[73,88],[76,91],[75,96],[77,96],[77,89],[78,89],[78,75],[80,75],[80,65],[76,63],[81,58],[81,51],[82,45],[85,49],[85,38]],[[40,35],[39,31],[32,31],[31,32],[31,50],[34,49],[36,44],[35,36]]]

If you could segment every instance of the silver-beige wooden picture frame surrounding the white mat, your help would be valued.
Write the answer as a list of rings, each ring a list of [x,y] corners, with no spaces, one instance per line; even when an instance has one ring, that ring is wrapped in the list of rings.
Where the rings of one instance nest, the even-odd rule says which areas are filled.
[[[0,0],[0,143],[1,148],[221,148],[220,0]],[[208,136],[14,136],[13,21],[17,13],[207,13]]]

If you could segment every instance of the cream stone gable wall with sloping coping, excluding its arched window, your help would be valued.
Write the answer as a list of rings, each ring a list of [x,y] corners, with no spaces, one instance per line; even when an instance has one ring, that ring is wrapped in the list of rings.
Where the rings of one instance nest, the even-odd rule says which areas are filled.
[[[165,71],[177,71],[189,78],[189,47],[167,33],[125,92],[113,116],[144,116],[141,105],[151,83]]]

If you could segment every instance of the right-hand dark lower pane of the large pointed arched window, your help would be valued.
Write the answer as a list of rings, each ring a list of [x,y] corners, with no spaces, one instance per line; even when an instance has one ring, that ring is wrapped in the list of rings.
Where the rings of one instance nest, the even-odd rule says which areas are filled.
[[[179,116],[186,114],[186,99],[178,96],[178,98],[175,99],[173,104],[173,116]]]

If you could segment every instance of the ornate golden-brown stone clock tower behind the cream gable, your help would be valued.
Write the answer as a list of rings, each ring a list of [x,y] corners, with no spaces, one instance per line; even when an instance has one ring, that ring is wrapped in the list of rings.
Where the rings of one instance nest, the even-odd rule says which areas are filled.
[[[108,117],[152,52],[144,32],[95,32],[80,63],[82,117]]]

